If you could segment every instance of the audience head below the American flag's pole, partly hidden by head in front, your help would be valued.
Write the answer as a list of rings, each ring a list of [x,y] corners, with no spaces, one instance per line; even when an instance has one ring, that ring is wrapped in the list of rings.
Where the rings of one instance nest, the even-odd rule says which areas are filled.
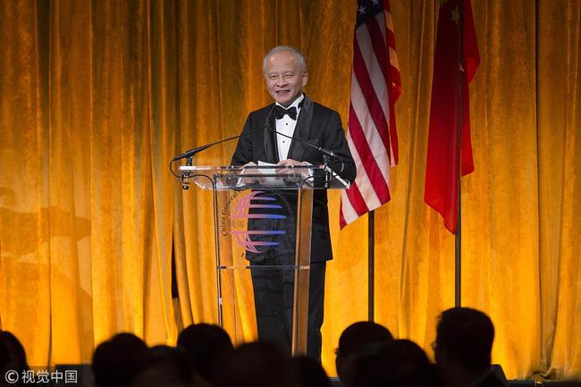
[[[349,325],[339,338],[339,346],[336,350],[335,366],[337,374],[343,384],[350,385],[351,364],[354,358],[366,353],[369,346],[377,343],[392,341],[393,336],[383,325],[370,321],[361,321]]]

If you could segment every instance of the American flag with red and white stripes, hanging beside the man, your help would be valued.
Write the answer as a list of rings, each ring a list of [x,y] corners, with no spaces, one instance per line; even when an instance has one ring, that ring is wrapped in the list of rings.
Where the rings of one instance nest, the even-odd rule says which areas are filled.
[[[347,133],[357,178],[341,194],[341,229],[390,200],[390,168],[398,163],[393,105],[401,82],[389,0],[357,7]]]

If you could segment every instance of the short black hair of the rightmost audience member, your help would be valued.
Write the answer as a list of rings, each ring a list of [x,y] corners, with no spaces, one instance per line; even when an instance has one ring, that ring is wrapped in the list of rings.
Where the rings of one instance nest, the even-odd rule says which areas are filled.
[[[436,327],[436,354],[446,349],[462,366],[480,369],[491,364],[493,341],[493,321],[484,312],[470,307],[452,307],[440,315]]]

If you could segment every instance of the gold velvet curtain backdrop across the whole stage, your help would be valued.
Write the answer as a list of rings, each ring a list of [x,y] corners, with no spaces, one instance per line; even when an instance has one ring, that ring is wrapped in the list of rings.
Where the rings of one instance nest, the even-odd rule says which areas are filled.
[[[307,55],[307,93],[347,120],[355,2],[0,2],[0,322],[32,365],[88,362],[114,332],[173,343],[215,322],[208,192],[167,164],[238,134],[268,103],[277,44]],[[376,212],[376,321],[428,353],[453,306],[453,237],[423,202],[437,4],[392,0],[403,94],[392,201]],[[581,376],[581,3],[473,1],[476,172],[462,181],[462,297],[493,318],[509,378]],[[198,164],[226,164],[234,144]],[[338,227],[324,366],[366,319],[366,219]],[[172,251],[179,303],[173,303]]]

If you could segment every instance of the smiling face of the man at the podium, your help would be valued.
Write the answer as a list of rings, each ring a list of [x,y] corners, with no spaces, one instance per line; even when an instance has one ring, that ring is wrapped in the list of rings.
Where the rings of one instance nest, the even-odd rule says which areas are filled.
[[[298,55],[279,51],[266,60],[265,83],[276,102],[289,106],[307,84],[307,71],[300,70]]]

